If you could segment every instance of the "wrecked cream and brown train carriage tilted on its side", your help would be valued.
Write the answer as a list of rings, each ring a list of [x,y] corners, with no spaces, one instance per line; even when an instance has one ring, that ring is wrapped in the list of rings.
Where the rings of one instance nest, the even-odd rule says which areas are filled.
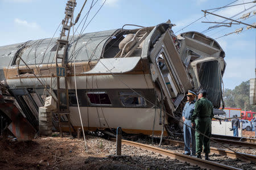
[[[164,125],[164,133],[172,134],[180,129],[177,120],[188,90],[204,88],[214,108],[220,107],[224,51],[217,41],[201,33],[176,36],[171,27],[163,23],[69,39],[68,97],[75,130],[81,127],[75,73],[82,122],[89,130],[121,126],[126,133],[160,134]],[[0,47],[0,78],[35,129],[38,108],[49,95],[44,86],[56,94],[56,41],[43,39]],[[65,84],[64,78],[60,82]],[[65,103],[65,99],[63,94],[60,102]],[[53,113],[53,123],[57,118]],[[68,128],[64,126],[63,130]]]

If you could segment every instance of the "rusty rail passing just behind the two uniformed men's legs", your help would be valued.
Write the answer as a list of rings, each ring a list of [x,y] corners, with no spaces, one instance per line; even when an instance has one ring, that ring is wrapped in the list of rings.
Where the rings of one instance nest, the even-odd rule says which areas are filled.
[[[169,145],[171,144],[171,145],[176,145],[176,146],[184,146],[184,142],[182,142],[182,141],[174,141],[174,140],[166,139],[165,142],[168,143]],[[255,155],[243,154],[241,152],[236,153],[233,151],[224,150],[224,149],[216,148],[216,147],[210,147],[210,152],[228,156],[229,158],[232,158],[232,159],[239,158],[241,160],[244,160],[245,162],[250,162],[250,161],[256,162]]]

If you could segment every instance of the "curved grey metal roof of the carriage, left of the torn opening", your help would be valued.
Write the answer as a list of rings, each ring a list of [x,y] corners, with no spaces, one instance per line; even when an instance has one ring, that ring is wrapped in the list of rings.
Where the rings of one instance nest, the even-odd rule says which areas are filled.
[[[104,45],[121,29],[109,31],[84,33],[75,35],[75,57],[76,61],[88,61],[101,58]],[[58,38],[27,41],[19,44],[0,46],[0,69],[11,66],[14,57],[19,54],[28,64],[55,63],[56,42]],[[64,49],[64,48],[63,48]],[[73,61],[73,36],[69,37],[68,60]],[[15,65],[15,63],[13,63]],[[19,65],[24,65],[20,62]]]

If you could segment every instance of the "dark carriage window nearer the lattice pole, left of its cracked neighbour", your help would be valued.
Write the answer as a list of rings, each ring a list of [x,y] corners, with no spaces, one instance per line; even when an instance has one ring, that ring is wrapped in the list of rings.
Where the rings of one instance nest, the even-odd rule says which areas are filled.
[[[111,105],[109,95],[106,92],[87,92],[86,95],[90,101],[90,104]]]

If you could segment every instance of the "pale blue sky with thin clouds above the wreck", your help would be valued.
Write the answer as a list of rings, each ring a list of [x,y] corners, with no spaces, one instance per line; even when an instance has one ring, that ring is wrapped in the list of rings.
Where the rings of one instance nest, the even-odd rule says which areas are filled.
[[[209,27],[216,24],[201,22],[224,22],[225,19],[210,14],[204,17],[204,12],[201,10],[223,7],[234,1],[88,0],[82,11],[79,23],[86,12],[89,11],[91,4],[95,3],[89,12],[85,25],[92,20],[83,33],[122,28],[124,24],[137,24],[147,27],[167,22],[168,19],[173,24],[176,24],[172,28],[176,35],[187,31],[204,33],[216,39],[224,49],[226,54],[224,58],[226,61],[226,70],[223,78],[224,88],[233,89],[241,82],[255,78],[255,28],[247,30],[247,25],[233,24],[232,27],[222,26],[208,30]],[[252,1],[238,0],[230,5]],[[0,14],[2,16],[0,20],[0,46],[49,38],[54,35],[55,31],[54,37],[59,36],[60,28],[57,28],[64,18],[66,2],[66,0],[0,0]],[[81,10],[84,0],[77,0],[76,2],[75,16]],[[96,14],[97,11],[98,13]],[[209,10],[209,12],[213,11]],[[243,14],[250,12],[249,18],[240,19],[240,21],[253,24],[256,23],[256,15],[253,15],[254,11],[256,12],[256,3],[247,3],[245,5],[221,8],[215,11],[214,14],[230,18],[241,12],[241,14],[233,18],[239,19]],[[202,16],[203,18],[201,18]],[[199,18],[201,19],[191,24]],[[76,24],[75,28],[78,27],[79,23]],[[82,24],[78,27],[76,34],[80,33]],[[191,25],[186,27],[188,24]],[[224,36],[242,27],[243,31],[241,33],[232,33]]]

